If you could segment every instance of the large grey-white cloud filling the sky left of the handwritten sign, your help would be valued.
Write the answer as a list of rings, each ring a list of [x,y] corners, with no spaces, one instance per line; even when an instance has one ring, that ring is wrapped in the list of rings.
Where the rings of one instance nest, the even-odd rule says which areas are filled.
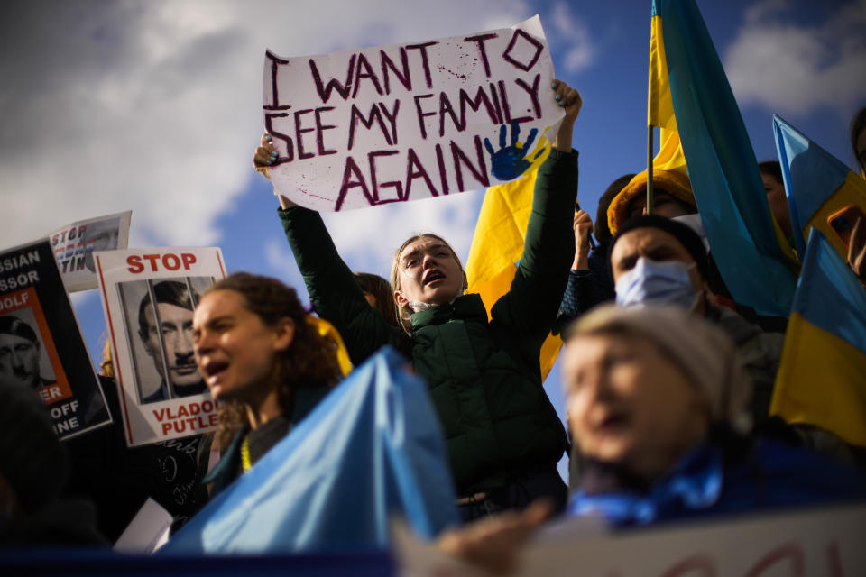
[[[252,178],[265,49],[325,53],[530,15],[516,0],[5,2],[0,246],[129,208],[131,245],[216,243],[217,216]]]

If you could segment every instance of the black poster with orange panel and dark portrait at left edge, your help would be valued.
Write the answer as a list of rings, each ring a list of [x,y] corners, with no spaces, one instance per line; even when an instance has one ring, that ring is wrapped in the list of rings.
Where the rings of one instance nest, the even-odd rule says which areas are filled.
[[[48,239],[0,252],[0,386],[30,387],[60,439],[111,423]]]

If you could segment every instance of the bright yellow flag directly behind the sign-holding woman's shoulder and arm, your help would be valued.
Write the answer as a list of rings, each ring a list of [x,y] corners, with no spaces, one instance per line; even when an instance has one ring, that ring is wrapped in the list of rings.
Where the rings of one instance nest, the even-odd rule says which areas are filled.
[[[536,160],[536,166],[548,157],[549,152],[547,146],[547,151]],[[488,317],[496,301],[511,289],[511,280],[517,273],[515,263],[523,254],[537,174],[538,169],[534,169],[521,179],[488,188],[484,195],[466,260],[466,280],[469,285],[467,292],[481,295]],[[542,380],[547,379],[548,372],[557,362],[561,346],[562,340],[558,336],[548,334],[539,356]]]

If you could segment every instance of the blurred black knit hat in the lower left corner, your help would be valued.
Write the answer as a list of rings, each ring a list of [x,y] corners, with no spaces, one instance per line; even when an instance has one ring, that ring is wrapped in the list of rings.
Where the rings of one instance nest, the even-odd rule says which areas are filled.
[[[26,513],[57,498],[66,485],[67,454],[47,408],[29,387],[0,385],[0,475]]]

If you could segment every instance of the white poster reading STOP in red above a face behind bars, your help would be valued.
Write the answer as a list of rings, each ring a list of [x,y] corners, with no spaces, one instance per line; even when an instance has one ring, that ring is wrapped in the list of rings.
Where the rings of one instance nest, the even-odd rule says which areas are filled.
[[[218,248],[97,252],[97,276],[129,446],[198,435],[217,426],[193,354],[192,313],[226,276]]]

